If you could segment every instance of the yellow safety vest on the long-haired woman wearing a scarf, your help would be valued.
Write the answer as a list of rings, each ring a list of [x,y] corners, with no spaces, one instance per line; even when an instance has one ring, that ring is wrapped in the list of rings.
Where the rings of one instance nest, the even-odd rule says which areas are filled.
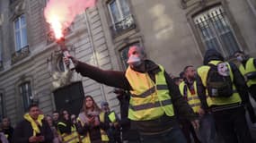
[[[103,112],[100,114],[100,122],[105,122],[104,115],[105,114]],[[78,122],[82,123],[82,126],[84,126],[84,122],[82,122],[79,118],[77,118],[77,120],[78,120]],[[106,131],[102,130],[102,129],[100,129],[100,131],[101,131],[102,141],[109,141],[110,139],[109,139]],[[81,139],[82,139],[82,143],[91,143],[89,132],[87,132],[86,136],[81,136]]]

